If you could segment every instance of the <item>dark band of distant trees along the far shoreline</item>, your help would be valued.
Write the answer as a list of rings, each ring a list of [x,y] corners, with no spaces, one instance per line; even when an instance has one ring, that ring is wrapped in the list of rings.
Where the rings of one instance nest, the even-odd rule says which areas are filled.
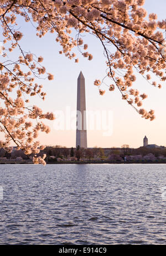
[[[66,148],[61,145],[56,146],[46,146],[43,150],[41,150],[36,156],[46,154],[46,160],[49,161],[51,159],[66,159],[66,160],[80,160],[80,159],[112,159],[112,160],[121,160],[140,158],[143,159],[146,156],[149,158],[166,158],[166,149],[165,148],[148,148],[148,147],[139,147],[139,148]],[[27,155],[23,150],[16,150],[15,148],[11,153],[8,153],[3,148],[0,149],[0,158],[7,159],[16,159],[22,158],[24,160],[33,159],[34,154]]]

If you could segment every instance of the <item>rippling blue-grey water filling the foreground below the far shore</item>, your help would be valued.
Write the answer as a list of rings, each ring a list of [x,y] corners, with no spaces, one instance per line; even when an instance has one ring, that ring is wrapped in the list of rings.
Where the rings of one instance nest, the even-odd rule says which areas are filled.
[[[165,167],[0,165],[0,244],[165,244]]]

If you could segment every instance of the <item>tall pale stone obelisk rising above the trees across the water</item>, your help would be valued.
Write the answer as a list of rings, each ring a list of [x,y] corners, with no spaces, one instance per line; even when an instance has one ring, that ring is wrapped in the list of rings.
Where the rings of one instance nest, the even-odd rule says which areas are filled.
[[[87,148],[85,78],[80,72],[77,79],[77,127],[76,147]]]

